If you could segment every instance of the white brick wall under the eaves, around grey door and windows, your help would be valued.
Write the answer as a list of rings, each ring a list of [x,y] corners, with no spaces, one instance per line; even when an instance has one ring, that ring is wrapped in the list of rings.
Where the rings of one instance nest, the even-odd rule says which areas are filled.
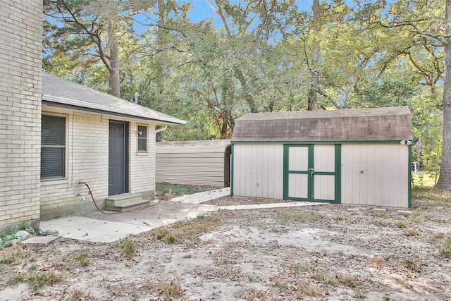
[[[78,183],[88,183],[102,206],[109,193],[109,121],[118,117],[50,106],[44,106],[43,110],[44,114],[64,113],[68,118],[68,169],[64,179],[41,181],[42,219],[95,210],[86,186]],[[131,193],[154,190],[154,125],[147,124],[149,152],[137,153],[137,124],[146,123],[124,121],[129,122],[129,190]]]

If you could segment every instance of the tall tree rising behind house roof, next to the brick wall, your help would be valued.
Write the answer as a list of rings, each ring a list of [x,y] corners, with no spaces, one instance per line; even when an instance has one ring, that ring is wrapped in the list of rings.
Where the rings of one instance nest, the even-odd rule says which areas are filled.
[[[53,49],[44,60],[51,62],[51,51],[68,52],[83,68],[101,61],[109,71],[110,92],[120,97],[118,39],[132,32],[131,6],[118,0],[44,0],[44,40]],[[92,59],[95,58],[95,59]]]

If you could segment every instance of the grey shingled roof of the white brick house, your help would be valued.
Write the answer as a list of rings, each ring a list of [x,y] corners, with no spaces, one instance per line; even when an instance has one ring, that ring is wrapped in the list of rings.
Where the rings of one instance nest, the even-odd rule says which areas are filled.
[[[115,116],[152,120],[161,125],[186,123],[186,121],[165,113],[45,72],[42,73],[42,102],[50,106],[63,106],[82,111],[97,111]]]

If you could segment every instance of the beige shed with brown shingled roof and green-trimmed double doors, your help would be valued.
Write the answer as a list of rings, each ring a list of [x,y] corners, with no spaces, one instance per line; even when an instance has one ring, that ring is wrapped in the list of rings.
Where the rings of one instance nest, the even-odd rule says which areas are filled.
[[[247,113],[235,121],[231,195],[411,206],[404,107]]]

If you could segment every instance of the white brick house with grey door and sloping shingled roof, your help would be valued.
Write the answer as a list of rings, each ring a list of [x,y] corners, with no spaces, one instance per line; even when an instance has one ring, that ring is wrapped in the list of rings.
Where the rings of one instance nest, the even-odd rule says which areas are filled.
[[[178,118],[42,72],[42,0],[0,0],[0,231],[152,197],[155,133]]]

